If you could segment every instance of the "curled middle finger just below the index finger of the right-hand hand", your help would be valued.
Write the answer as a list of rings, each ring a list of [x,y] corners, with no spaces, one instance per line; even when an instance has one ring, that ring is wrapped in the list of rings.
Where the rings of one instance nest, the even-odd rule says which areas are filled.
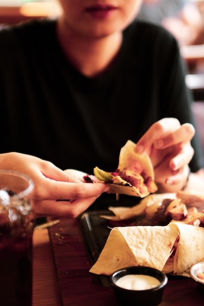
[[[157,149],[165,149],[169,146],[173,146],[180,142],[190,141],[195,135],[195,129],[190,123],[185,123],[181,127],[169,133],[168,135],[158,139],[154,142],[154,145]]]

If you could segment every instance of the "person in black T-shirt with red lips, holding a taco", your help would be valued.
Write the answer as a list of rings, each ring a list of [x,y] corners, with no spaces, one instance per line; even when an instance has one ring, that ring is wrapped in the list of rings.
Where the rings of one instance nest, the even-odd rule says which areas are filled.
[[[108,187],[63,170],[114,171],[131,139],[159,192],[181,190],[204,163],[177,41],[135,20],[141,0],[59,2],[0,31],[0,168],[33,178],[36,215],[76,217]]]

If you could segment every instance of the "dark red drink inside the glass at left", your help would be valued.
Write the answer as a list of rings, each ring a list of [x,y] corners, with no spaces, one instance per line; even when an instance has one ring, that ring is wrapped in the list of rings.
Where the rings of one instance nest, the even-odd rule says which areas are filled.
[[[12,214],[9,209],[9,214]],[[0,304],[32,306],[32,234],[34,220],[13,210],[0,214]]]

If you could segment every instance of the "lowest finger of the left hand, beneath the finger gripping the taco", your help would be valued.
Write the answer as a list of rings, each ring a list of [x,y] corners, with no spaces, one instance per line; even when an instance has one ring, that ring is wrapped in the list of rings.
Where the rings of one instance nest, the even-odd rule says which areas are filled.
[[[54,216],[55,218],[76,218],[84,212],[97,197],[71,201],[32,201],[35,217]]]

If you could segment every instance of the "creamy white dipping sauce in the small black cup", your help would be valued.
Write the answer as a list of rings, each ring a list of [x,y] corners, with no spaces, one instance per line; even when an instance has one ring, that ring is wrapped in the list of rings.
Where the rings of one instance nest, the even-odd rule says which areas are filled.
[[[119,278],[115,284],[129,290],[147,290],[159,286],[160,282],[149,275],[129,274]]]

